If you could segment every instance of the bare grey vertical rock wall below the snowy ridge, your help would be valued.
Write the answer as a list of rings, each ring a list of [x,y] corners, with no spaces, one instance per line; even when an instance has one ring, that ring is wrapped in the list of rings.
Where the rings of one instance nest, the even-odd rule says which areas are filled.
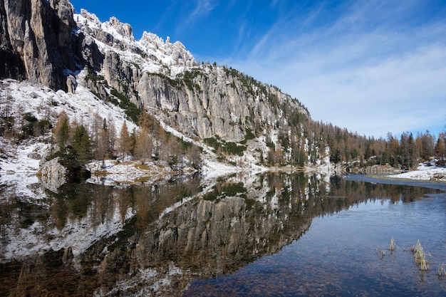
[[[271,108],[271,98],[276,105],[309,116],[299,102],[276,88],[258,83],[264,88],[260,91],[253,83],[249,90],[241,77],[229,74],[224,68],[202,66],[194,69],[192,78],[187,73],[175,84],[150,73],[143,73],[137,82],[142,105],[148,110],[161,111],[158,115],[162,120],[192,137],[218,135],[240,141],[247,128],[278,125],[284,110]]]

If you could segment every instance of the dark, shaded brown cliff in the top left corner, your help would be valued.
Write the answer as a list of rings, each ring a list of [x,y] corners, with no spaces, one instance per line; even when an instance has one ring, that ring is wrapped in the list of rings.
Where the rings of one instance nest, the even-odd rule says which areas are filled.
[[[75,70],[73,6],[68,0],[0,0],[1,78],[67,90]]]

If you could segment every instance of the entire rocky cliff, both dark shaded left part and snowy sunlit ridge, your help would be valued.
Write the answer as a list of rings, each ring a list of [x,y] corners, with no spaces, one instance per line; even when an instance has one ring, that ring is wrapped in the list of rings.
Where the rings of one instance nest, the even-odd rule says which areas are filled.
[[[130,24],[73,10],[68,0],[0,0],[0,77],[70,93],[81,84],[104,103],[130,100],[194,140],[303,134],[308,111],[278,88],[199,65],[179,41],[147,32],[135,40]]]

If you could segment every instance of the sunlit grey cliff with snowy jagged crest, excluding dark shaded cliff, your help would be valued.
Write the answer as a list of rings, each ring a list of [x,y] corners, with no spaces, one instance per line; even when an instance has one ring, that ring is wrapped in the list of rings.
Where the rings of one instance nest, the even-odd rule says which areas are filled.
[[[108,86],[187,136],[241,141],[247,130],[286,125],[285,113],[309,116],[277,88],[232,68],[199,66],[180,42],[152,33],[135,41],[130,25],[115,18],[101,23],[85,10],[75,20],[85,38],[100,44],[104,59],[98,74]],[[79,83],[106,99],[103,84]]]

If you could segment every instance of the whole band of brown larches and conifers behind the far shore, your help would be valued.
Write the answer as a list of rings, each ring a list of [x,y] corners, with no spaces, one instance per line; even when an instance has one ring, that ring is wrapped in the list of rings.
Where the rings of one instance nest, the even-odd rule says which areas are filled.
[[[94,115],[87,126],[71,121],[66,113],[61,113],[52,125],[46,117],[38,120],[31,113],[21,118],[11,113],[11,100],[7,98],[0,115],[0,136],[17,141],[28,137],[46,137],[51,133],[51,157],[61,157],[66,167],[73,172],[82,171],[91,160],[106,160],[120,157],[125,160],[131,156],[141,162],[167,162],[172,167],[187,164],[198,167],[201,162],[201,149],[190,142],[166,132],[152,115],[139,113],[138,129],[129,131],[127,124],[115,127],[112,120]],[[293,106],[284,103],[277,105],[284,115],[274,127],[265,127],[255,111],[251,110],[247,139],[235,148],[246,150],[247,140],[261,137],[266,131],[264,141],[268,148],[266,154],[259,152],[261,165],[294,165],[304,167],[316,164],[322,157],[329,155],[333,163],[350,162],[360,166],[390,165],[402,169],[414,168],[419,162],[435,158],[437,165],[446,164],[446,133],[432,135],[429,131],[403,132],[399,137],[388,133],[386,138],[366,137],[350,132],[346,128],[313,121]],[[48,111],[49,114],[49,111]],[[242,125],[242,123],[240,123]],[[120,129],[117,132],[117,129]],[[276,139],[271,135],[276,129]],[[215,138],[217,139],[217,138]],[[230,142],[224,143],[228,149]],[[230,147],[229,147],[230,148]],[[218,148],[216,148],[218,152]],[[237,154],[244,154],[244,150]],[[228,152],[229,155],[231,151]]]

